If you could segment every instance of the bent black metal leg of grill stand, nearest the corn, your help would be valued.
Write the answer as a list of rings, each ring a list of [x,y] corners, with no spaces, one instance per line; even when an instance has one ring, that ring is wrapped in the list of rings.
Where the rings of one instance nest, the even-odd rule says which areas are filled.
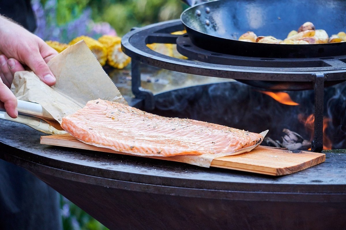
[[[131,60],[131,84],[132,92],[136,98],[144,99],[144,109],[153,110],[155,108],[154,95],[151,91],[140,86],[140,62]]]

